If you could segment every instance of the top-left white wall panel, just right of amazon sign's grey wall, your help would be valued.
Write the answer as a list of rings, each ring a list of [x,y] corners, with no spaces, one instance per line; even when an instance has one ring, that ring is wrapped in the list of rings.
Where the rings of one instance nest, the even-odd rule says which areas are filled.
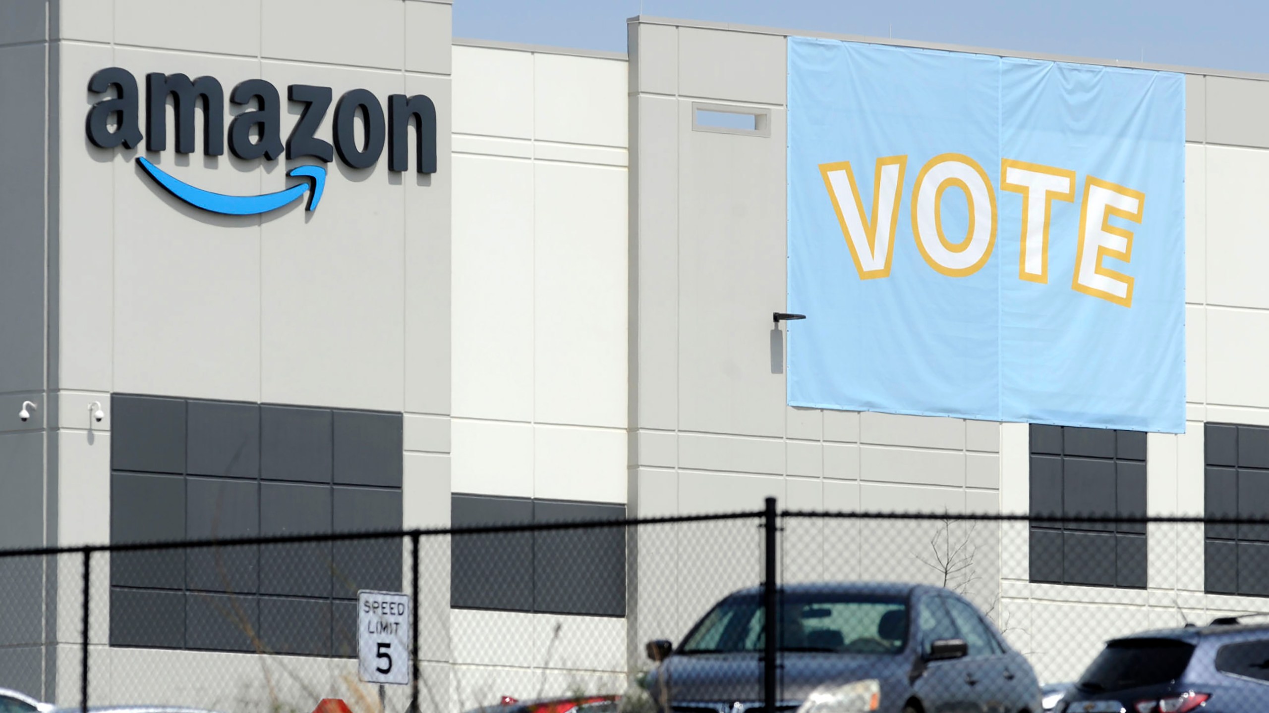
[[[456,133],[533,137],[532,53],[456,46],[453,62]]]

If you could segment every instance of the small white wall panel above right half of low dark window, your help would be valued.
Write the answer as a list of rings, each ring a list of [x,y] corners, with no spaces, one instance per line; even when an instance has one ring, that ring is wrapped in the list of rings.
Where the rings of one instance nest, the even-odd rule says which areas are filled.
[[[533,426],[533,496],[626,502],[626,431]]]

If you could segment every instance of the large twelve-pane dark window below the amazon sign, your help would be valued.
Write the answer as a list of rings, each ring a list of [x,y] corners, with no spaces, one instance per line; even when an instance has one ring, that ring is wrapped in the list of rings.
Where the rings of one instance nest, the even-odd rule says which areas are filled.
[[[110,542],[401,528],[401,414],[112,396]],[[110,644],[355,653],[401,540],[119,552]]]

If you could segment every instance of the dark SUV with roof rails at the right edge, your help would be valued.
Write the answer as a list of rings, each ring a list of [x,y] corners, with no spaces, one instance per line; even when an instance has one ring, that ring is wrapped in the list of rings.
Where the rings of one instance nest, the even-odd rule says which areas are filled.
[[[1269,700],[1269,625],[1237,618],[1107,642],[1058,713],[1251,713]]]

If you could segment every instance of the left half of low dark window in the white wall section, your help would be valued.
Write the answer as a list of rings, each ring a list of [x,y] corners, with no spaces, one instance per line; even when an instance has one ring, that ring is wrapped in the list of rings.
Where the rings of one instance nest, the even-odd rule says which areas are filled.
[[[533,521],[533,501],[454,495],[454,528],[511,525]],[[466,609],[533,609],[533,534],[454,534],[449,557],[450,606]]]

